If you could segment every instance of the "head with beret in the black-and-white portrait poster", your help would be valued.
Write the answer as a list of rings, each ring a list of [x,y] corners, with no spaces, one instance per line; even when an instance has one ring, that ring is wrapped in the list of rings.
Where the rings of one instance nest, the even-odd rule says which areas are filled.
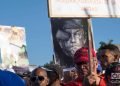
[[[85,29],[82,19],[63,18],[58,19],[56,39],[67,56],[74,56],[76,50],[86,43]]]

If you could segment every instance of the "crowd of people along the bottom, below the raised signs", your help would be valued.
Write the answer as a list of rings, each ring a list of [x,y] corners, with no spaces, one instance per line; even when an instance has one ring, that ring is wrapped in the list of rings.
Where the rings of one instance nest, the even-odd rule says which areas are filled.
[[[74,68],[65,74],[59,64],[37,67],[32,72],[20,76],[9,71],[0,72],[0,86],[120,86],[120,51],[114,44],[106,44],[92,53],[90,70],[87,47],[74,54]],[[5,79],[4,77],[8,77]],[[15,77],[15,78],[14,78]],[[68,80],[66,81],[66,78]],[[20,83],[20,84],[16,84]],[[9,85],[8,85],[9,84]]]

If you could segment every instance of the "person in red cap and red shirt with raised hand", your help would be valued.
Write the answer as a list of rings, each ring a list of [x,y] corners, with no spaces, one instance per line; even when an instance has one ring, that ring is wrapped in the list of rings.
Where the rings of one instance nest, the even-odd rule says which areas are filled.
[[[94,50],[90,51],[92,57],[96,58]],[[104,77],[97,75],[97,61],[94,62],[94,72],[90,74],[88,48],[82,47],[78,49],[74,55],[74,63],[78,72],[78,78],[70,81],[66,86],[106,86]]]

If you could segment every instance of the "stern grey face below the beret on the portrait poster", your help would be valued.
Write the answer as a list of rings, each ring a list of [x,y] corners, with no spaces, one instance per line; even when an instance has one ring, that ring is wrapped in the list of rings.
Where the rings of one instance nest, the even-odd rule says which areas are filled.
[[[82,28],[65,28],[58,30],[56,38],[66,55],[72,56],[85,44],[84,30]]]

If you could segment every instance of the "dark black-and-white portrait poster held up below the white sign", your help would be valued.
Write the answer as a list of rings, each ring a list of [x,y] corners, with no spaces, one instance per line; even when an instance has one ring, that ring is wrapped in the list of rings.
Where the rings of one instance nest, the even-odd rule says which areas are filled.
[[[69,62],[73,64],[72,59],[76,50],[86,46],[87,32],[83,27],[82,19],[53,18],[51,24],[55,55],[57,54],[61,64],[68,64]]]

